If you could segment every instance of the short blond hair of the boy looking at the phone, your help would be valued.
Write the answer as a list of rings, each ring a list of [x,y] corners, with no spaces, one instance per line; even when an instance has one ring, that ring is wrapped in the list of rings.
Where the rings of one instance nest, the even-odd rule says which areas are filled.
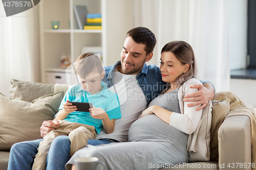
[[[75,61],[75,73],[85,79],[91,72],[103,72],[101,59],[93,53],[81,54]]]

